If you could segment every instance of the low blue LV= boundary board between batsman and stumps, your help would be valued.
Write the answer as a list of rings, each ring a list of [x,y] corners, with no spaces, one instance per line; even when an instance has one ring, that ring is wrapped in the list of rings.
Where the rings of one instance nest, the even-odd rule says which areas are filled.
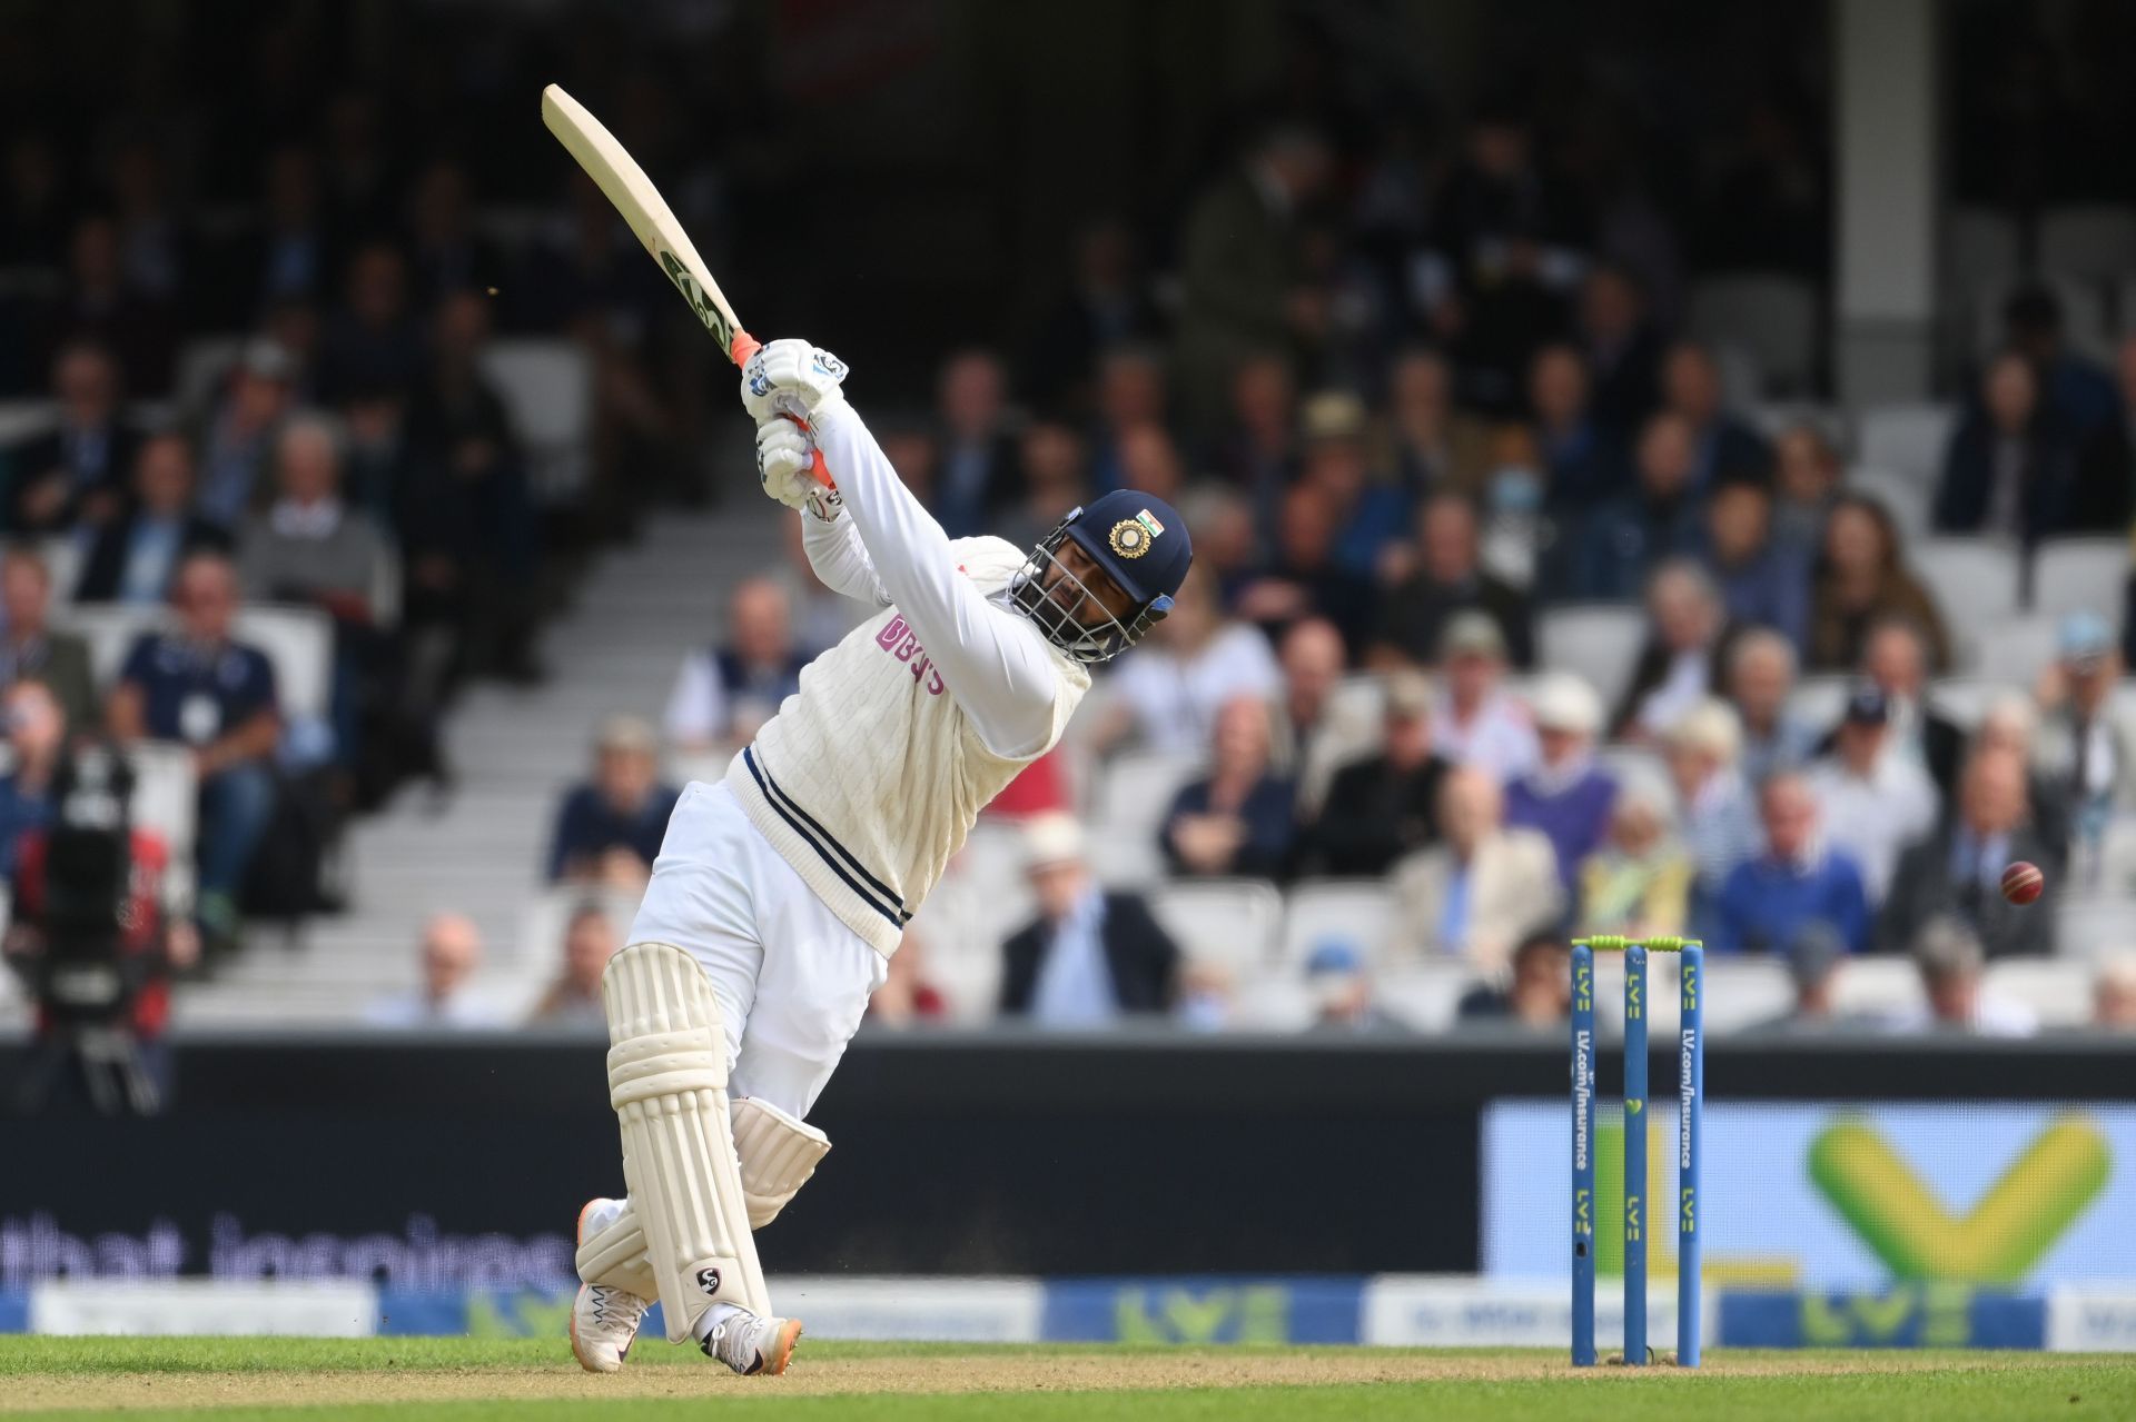
[[[1047,1343],[1356,1343],[1363,1279],[1053,1279]]]

